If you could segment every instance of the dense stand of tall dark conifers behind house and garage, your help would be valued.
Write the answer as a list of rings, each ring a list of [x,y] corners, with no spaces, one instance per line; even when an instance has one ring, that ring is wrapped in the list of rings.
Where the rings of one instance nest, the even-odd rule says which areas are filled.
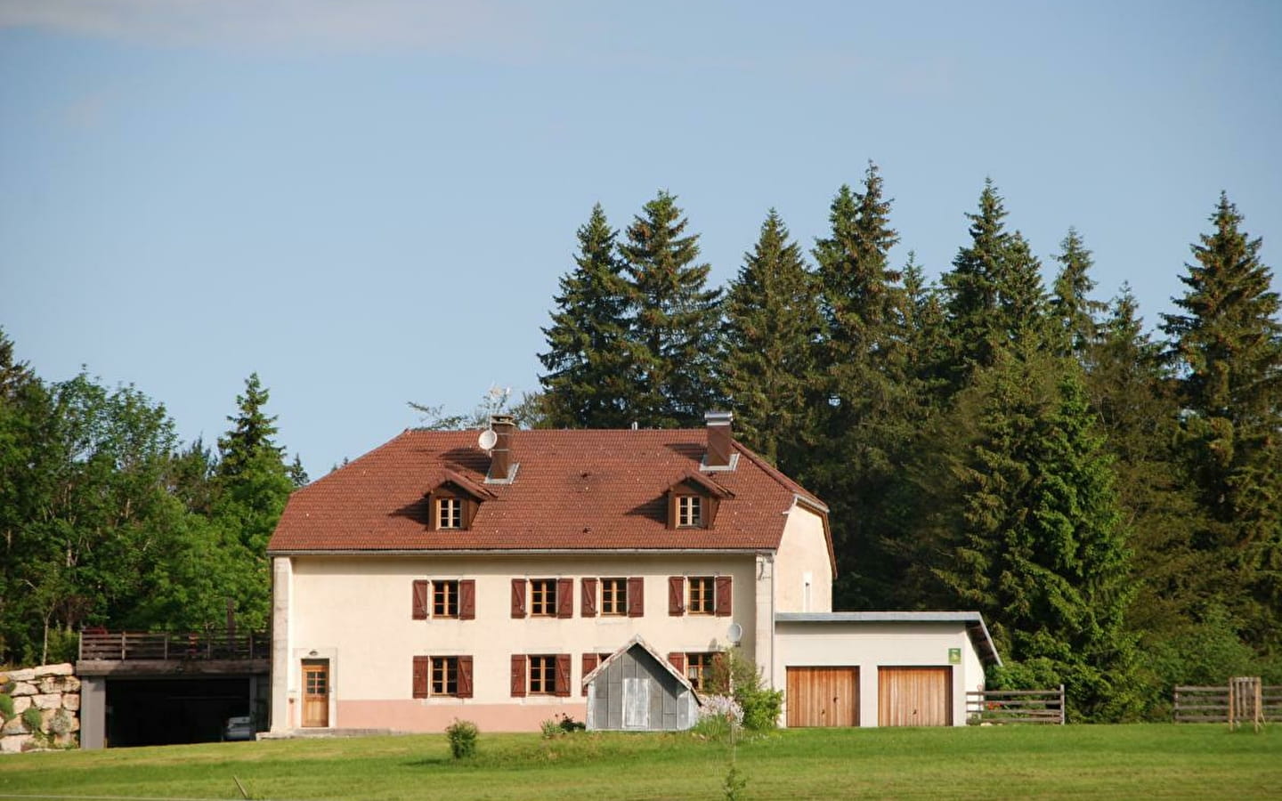
[[[935,282],[891,264],[891,210],[869,164],[809,252],[770,210],[720,290],[673,195],[622,236],[596,205],[527,423],[733,410],[831,506],[836,607],[981,611],[1006,661],[990,679],[1063,682],[1079,718],[1282,682],[1278,295],[1236,206],[1220,195],[1158,332],[1128,287],[1092,296],[1073,228],[1047,287],[991,181]]]

